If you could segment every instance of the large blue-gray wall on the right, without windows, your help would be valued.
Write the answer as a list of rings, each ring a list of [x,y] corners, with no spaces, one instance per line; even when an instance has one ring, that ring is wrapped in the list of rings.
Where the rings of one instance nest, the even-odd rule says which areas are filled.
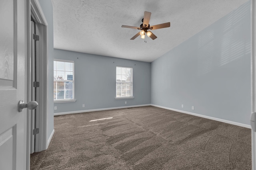
[[[250,36],[248,1],[152,62],[151,104],[250,125]]]

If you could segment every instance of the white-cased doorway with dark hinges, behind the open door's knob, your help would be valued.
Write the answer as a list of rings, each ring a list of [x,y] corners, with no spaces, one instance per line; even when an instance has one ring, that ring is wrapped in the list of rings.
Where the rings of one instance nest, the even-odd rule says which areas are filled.
[[[47,21],[38,0],[30,0],[28,18],[28,100],[38,102],[30,115],[30,153],[41,152],[48,147],[47,139],[47,75],[48,75],[48,28]]]

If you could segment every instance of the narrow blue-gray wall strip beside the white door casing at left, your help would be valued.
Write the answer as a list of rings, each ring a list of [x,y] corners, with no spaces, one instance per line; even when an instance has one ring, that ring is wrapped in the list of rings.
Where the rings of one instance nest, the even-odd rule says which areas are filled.
[[[47,103],[47,139],[54,129],[54,104],[53,104],[53,12],[52,12],[52,2],[51,0],[39,0],[40,6],[44,12],[44,16],[48,23],[48,103]]]

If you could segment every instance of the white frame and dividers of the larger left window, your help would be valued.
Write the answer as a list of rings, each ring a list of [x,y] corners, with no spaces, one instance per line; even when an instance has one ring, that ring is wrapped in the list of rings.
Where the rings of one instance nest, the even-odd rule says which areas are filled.
[[[72,81],[72,99],[59,99],[59,100],[56,100],[54,99],[54,103],[66,103],[66,102],[76,102],[75,100],[75,62],[74,61],[70,61],[70,60],[62,60],[62,59],[54,59],[54,62],[64,62],[64,63],[72,63],[73,64],[73,75],[72,75],[72,79],[73,80],[54,80],[53,81],[56,81],[56,82],[71,82]],[[54,66],[53,66],[53,72],[55,72],[56,69],[54,69]],[[64,73],[65,74],[65,73]],[[65,87],[65,86],[64,86]],[[57,91],[57,89],[53,89],[53,91]],[[65,88],[64,88],[64,93],[65,93]],[[65,97],[65,95],[64,95]]]

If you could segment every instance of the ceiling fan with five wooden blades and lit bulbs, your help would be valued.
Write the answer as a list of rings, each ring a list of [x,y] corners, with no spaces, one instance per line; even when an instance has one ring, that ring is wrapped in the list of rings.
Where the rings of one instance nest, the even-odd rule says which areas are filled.
[[[140,25],[140,27],[133,27],[133,26],[128,26],[128,25],[122,25],[121,27],[123,28],[133,28],[133,29],[139,29],[141,30],[140,32],[138,32],[136,35],[134,35],[131,40],[134,40],[135,38],[137,38],[139,35],[142,39],[145,38],[145,34],[150,37],[151,39],[156,39],[156,35],[154,35],[151,31],[148,30],[154,30],[154,29],[160,29],[160,28],[166,28],[166,27],[170,27],[170,22],[166,22],[166,23],[161,23],[158,25],[153,25],[150,26],[149,25],[149,20],[150,20],[150,16],[151,16],[151,12],[144,12],[144,18],[142,18],[142,24]]]

